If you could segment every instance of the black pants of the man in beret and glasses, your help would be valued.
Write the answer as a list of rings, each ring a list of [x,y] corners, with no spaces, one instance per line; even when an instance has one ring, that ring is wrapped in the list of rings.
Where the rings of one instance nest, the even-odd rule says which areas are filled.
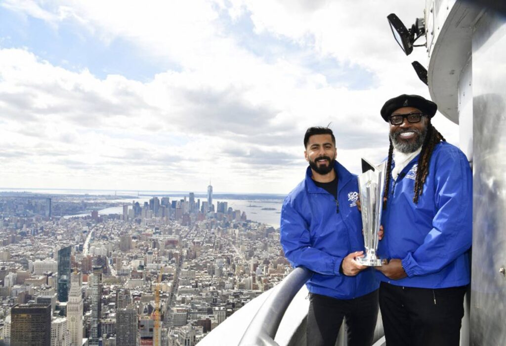
[[[382,282],[379,308],[387,346],[458,346],[466,288],[414,288]]]

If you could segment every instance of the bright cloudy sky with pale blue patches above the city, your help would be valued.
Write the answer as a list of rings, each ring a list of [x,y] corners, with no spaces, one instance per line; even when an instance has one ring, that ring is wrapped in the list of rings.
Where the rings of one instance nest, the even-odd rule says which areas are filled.
[[[386,19],[424,5],[3,0],[0,188],[284,194],[305,130],[328,124],[359,173],[387,155],[385,101],[430,97],[411,67],[426,48],[406,57]]]

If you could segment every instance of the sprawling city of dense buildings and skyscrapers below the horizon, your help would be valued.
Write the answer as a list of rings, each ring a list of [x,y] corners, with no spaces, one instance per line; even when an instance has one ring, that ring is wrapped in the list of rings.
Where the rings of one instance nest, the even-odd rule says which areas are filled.
[[[0,215],[0,344],[192,346],[289,269],[211,185],[122,212]]]

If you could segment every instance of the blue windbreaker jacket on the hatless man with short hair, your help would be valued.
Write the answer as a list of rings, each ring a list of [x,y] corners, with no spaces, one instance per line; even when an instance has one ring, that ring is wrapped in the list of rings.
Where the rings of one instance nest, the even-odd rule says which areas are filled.
[[[310,292],[337,299],[353,299],[377,289],[374,268],[356,276],[340,272],[350,253],[364,250],[362,219],[357,209],[357,177],[335,163],[338,201],[306,178],[285,198],[281,209],[281,245],[294,267],[306,267],[314,274],[306,285]]]

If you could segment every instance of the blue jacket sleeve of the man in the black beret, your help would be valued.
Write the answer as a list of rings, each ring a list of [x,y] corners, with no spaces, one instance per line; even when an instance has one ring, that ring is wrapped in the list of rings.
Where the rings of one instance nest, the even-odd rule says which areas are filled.
[[[409,277],[440,271],[472,245],[471,168],[460,152],[451,152],[441,161],[434,175],[436,214],[433,228],[418,249],[402,260]]]

